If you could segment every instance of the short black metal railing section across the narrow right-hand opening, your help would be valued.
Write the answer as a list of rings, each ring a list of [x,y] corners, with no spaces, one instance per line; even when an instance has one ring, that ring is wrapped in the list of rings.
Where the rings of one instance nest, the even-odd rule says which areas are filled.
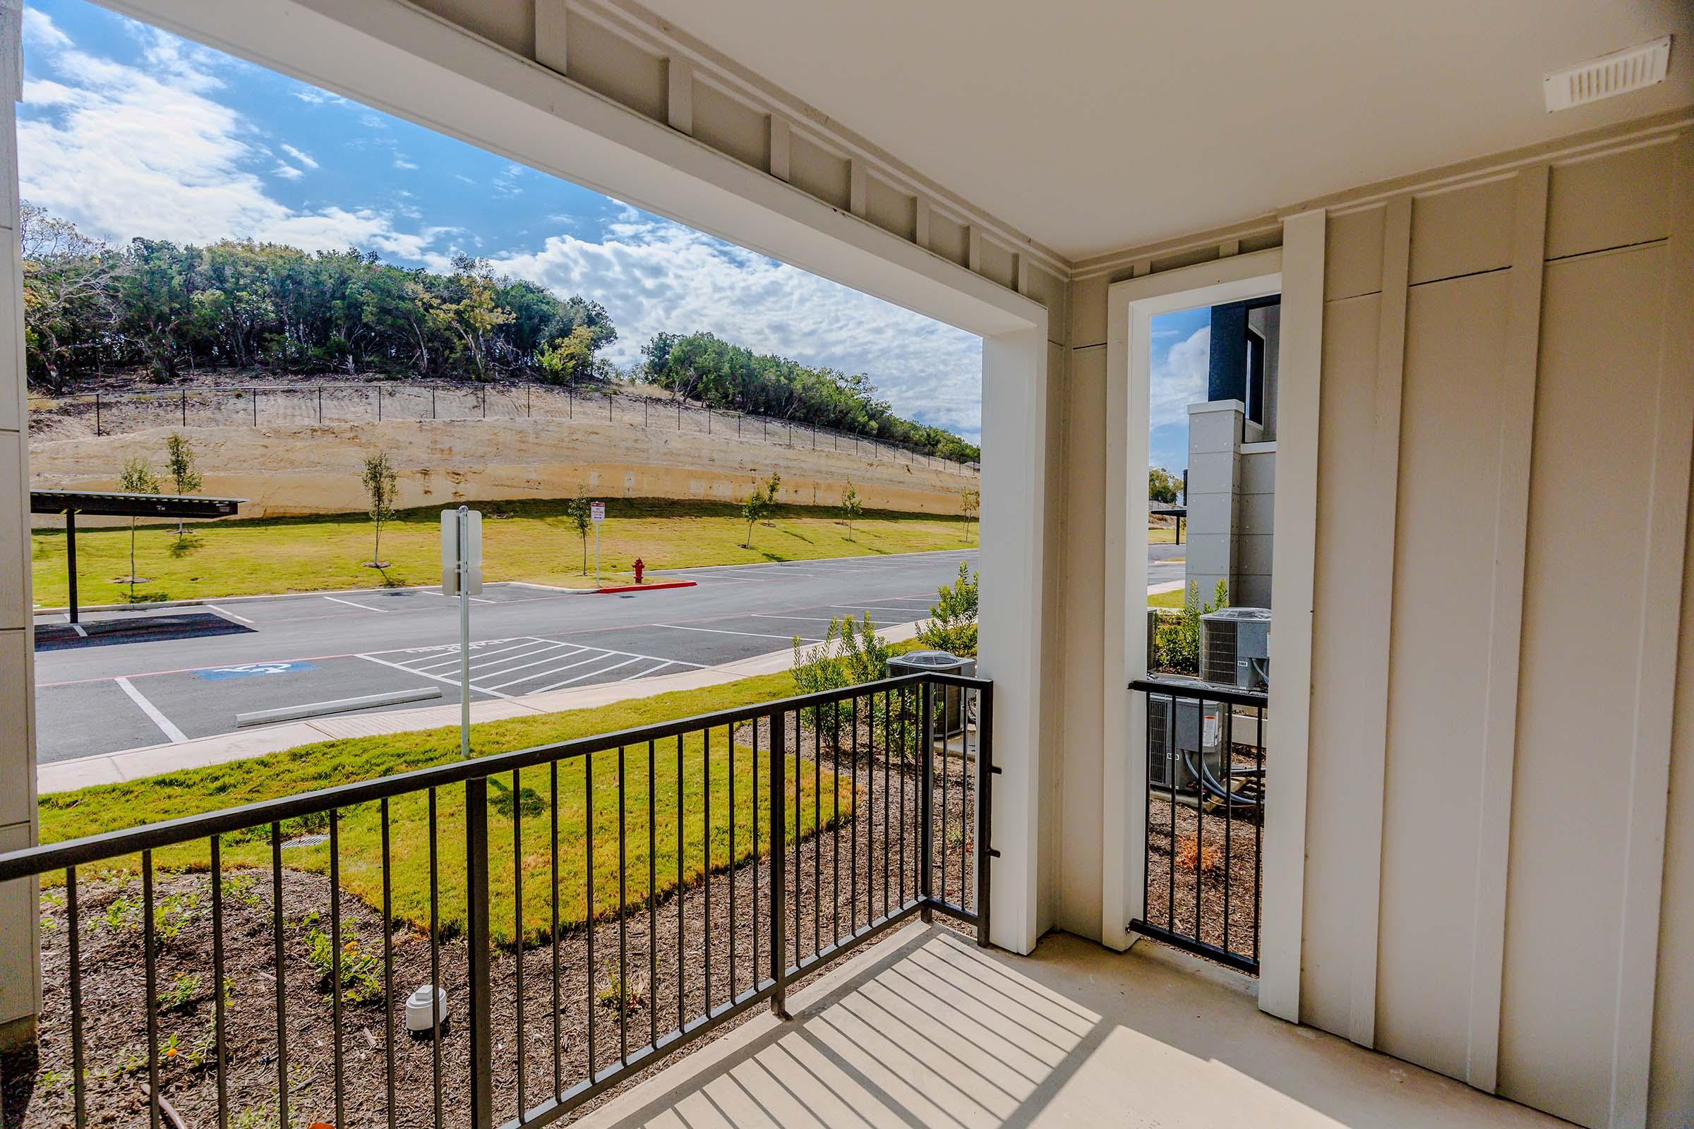
[[[1143,679],[1147,790],[1143,936],[1259,972],[1267,696]]]

